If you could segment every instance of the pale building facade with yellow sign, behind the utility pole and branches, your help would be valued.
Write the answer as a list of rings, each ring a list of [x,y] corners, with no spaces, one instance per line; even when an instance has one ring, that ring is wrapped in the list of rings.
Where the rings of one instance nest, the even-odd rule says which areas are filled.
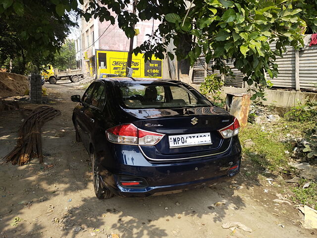
[[[88,1],[84,1],[83,9],[87,9]],[[132,6],[131,6],[132,10]],[[115,13],[111,13],[116,17]],[[99,18],[91,18],[88,22],[82,19],[81,48],[83,55],[82,68],[84,73],[99,77],[101,73],[123,74],[126,67],[130,39],[118,27],[117,22],[100,22]],[[159,21],[142,21],[135,25],[139,34],[134,37],[133,47],[140,46],[149,39],[153,30],[158,28]],[[153,62],[153,60],[155,60]],[[152,58],[152,62],[144,62],[143,54],[132,57],[133,76],[136,77],[161,77],[162,60]]]

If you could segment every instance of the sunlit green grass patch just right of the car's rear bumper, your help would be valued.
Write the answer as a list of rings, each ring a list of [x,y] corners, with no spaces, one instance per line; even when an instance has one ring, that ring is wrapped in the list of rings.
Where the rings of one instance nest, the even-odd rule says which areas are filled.
[[[272,172],[280,171],[280,167],[288,168],[285,151],[291,151],[292,146],[279,142],[277,132],[262,131],[260,125],[248,124],[239,135],[242,144],[246,139],[252,139],[255,143],[251,148],[243,147],[242,151],[256,165]]]

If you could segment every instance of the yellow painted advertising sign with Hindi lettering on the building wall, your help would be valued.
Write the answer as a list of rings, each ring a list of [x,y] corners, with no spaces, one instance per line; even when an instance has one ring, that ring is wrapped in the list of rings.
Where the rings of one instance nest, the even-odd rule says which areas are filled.
[[[131,68],[133,69],[133,77],[162,77],[162,60],[152,57],[151,62],[144,62],[144,54],[132,56]],[[97,74],[98,78],[101,73],[117,74],[125,76],[127,67],[128,52],[117,51],[96,51],[97,58]]]

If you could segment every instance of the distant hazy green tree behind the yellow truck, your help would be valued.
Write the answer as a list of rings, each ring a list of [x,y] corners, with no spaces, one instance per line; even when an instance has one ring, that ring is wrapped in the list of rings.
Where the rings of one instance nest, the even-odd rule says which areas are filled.
[[[65,70],[76,68],[75,41],[66,39],[65,43],[54,55],[54,68]]]

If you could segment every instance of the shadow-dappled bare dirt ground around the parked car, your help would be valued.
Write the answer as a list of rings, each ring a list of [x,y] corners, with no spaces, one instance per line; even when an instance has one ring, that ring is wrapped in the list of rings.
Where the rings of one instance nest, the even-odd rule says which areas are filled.
[[[120,238],[313,238],[303,215],[291,202],[275,204],[287,195],[281,177],[243,161],[230,182],[177,194],[147,198],[94,194],[92,168],[82,143],[75,142],[70,96],[84,91],[67,81],[46,84],[48,104],[62,115],[42,127],[44,164],[37,159],[18,167],[0,166],[0,238],[79,238],[119,234]],[[25,108],[0,115],[0,158],[14,148]],[[270,185],[269,179],[273,185]],[[252,229],[233,232],[221,226],[240,222]]]

